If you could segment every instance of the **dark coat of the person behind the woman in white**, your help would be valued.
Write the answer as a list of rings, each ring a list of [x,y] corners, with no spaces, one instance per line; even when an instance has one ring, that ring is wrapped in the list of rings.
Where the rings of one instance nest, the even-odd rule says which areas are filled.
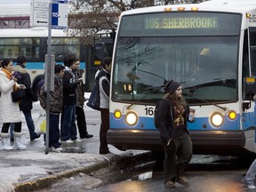
[[[24,84],[26,86],[26,98],[24,100],[20,100],[19,107],[20,110],[31,110],[33,108],[33,92],[31,89],[31,79],[28,74],[27,68],[24,65],[17,63],[16,66],[13,67],[13,72],[19,73],[18,84]]]

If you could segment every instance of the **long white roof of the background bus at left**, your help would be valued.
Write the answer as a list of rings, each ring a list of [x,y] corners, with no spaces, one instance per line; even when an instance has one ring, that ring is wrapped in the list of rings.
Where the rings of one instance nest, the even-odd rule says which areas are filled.
[[[3,28],[0,30],[0,37],[43,37],[48,36],[48,28]],[[52,29],[52,36],[67,36],[60,29]]]

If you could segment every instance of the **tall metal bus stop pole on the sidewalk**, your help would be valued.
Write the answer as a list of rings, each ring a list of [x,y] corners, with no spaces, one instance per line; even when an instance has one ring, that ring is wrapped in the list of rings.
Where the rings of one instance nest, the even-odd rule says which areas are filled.
[[[47,91],[46,91],[46,135],[45,135],[45,154],[49,153],[49,119],[50,119],[50,90],[51,90],[51,65],[52,65],[52,0],[49,3],[49,25],[48,25],[48,47],[47,47]]]

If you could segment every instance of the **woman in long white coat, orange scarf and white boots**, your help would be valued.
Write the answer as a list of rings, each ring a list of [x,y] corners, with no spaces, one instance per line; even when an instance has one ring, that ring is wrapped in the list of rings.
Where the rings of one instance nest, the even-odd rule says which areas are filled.
[[[0,70],[0,119],[3,122],[1,131],[2,149],[24,150],[26,146],[21,144],[21,115],[18,102],[12,102],[12,92],[17,88],[26,89],[24,84],[17,84],[18,79],[12,76],[12,60],[4,59]],[[9,143],[9,127],[14,123],[14,145]]]

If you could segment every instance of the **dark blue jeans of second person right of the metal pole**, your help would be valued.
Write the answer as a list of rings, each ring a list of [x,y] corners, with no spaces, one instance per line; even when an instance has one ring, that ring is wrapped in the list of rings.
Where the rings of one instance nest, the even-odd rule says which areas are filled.
[[[63,141],[76,140],[76,105],[64,105],[63,110],[60,138]]]

